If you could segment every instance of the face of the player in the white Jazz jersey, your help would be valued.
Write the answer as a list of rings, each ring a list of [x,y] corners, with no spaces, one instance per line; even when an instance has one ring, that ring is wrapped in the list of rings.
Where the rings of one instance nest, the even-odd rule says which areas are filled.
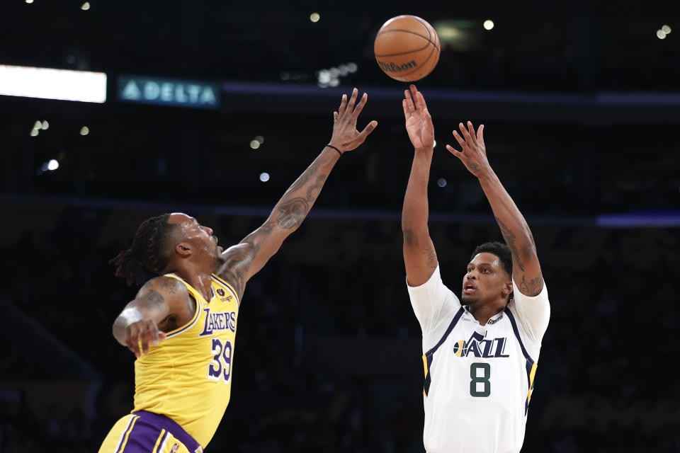
[[[494,302],[499,297],[506,297],[504,289],[510,280],[497,256],[487,252],[477,253],[463,276],[463,304]]]

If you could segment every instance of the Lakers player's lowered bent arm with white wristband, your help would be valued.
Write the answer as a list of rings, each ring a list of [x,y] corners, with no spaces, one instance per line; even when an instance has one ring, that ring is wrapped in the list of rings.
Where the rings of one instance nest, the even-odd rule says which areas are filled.
[[[165,339],[164,326],[186,321],[191,312],[188,299],[188,291],[179,280],[163,276],[152,278],[115,319],[113,336],[136,357],[147,354],[149,343],[157,345]]]

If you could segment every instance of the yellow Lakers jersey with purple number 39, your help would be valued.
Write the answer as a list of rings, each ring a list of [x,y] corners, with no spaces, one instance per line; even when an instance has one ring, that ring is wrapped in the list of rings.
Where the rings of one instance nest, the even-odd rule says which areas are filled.
[[[166,415],[205,448],[229,404],[239,298],[216,275],[209,301],[177,275],[165,277],[186,285],[196,314],[135,361],[133,412]]]

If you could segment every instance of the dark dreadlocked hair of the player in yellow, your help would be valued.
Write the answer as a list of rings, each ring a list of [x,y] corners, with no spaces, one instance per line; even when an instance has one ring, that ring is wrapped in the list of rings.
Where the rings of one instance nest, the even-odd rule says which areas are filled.
[[[137,228],[132,246],[109,261],[116,266],[115,276],[123,277],[128,285],[142,285],[154,275],[160,275],[169,263],[168,239],[176,227],[169,224],[170,214],[146,219]]]

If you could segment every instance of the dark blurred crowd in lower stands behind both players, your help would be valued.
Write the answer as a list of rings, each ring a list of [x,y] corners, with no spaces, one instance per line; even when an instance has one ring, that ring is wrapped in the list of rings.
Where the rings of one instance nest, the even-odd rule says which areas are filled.
[[[0,356],[0,453],[96,451],[132,408],[133,356],[111,324],[135,289],[107,263],[128,244],[94,246],[115,217],[101,211],[91,229],[82,214],[65,210],[2,247],[0,306],[21,316]],[[260,221],[211,226],[227,238]],[[532,229],[552,315],[523,451],[680,452],[680,230]],[[475,244],[500,239],[484,223],[431,222],[431,236],[454,292]],[[399,222],[307,219],[249,282],[238,326],[232,401],[208,451],[423,451],[420,330]],[[37,349],[36,338],[52,345]],[[394,367],[371,367],[392,355]]]

